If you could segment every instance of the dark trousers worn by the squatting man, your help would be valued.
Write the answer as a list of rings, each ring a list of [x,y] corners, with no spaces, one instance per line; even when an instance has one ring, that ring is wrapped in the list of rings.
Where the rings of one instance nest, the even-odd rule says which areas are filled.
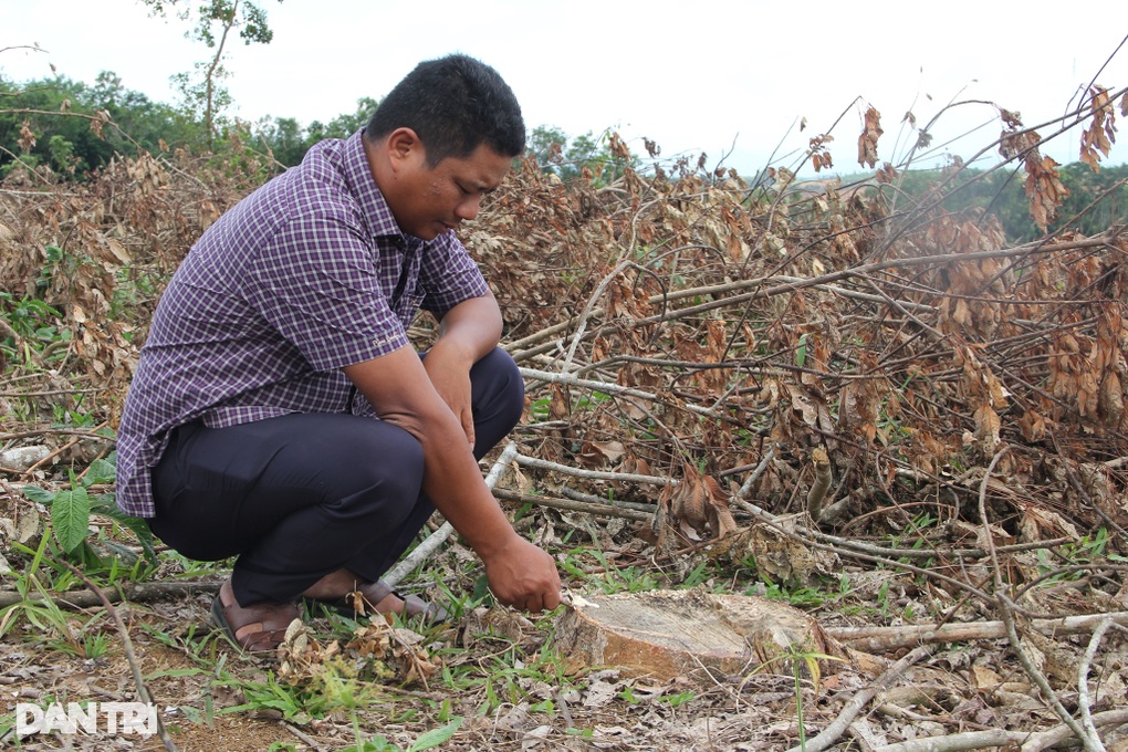
[[[481,460],[517,425],[525,389],[502,350],[474,365],[470,383]],[[343,413],[180,426],[152,478],[153,533],[191,559],[237,557],[240,605],[293,601],[341,568],[376,582],[434,511],[418,442]]]

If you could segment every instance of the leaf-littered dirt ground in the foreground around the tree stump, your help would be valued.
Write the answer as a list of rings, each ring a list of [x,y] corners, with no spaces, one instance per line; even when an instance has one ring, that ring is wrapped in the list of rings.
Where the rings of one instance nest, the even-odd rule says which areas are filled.
[[[864,578],[858,582],[864,583]],[[887,593],[888,584],[885,581]],[[862,584],[855,602],[871,598],[869,591],[879,587]],[[895,600],[911,599],[897,594],[896,582],[892,591]],[[1077,599],[1074,604],[1092,605]],[[820,662],[817,687],[810,674],[803,678],[797,705],[795,678],[776,673],[770,666],[731,675],[703,667],[672,679],[591,667],[554,678],[541,661],[553,653],[558,616],[529,620],[500,609],[466,613],[460,621],[430,631],[425,638],[421,636],[423,652],[415,649],[413,660],[425,655],[431,667],[412,681],[405,681],[405,664],[396,660],[394,652],[385,655],[388,665],[397,667],[396,675],[372,682],[370,689],[378,698],[370,697],[359,709],[338,707],[319,717],[284,717],[283,710],[259,702],[254,709],[231,713],[226,710],[248,702],[240,682],[262,687],[285,670],[274,656],[247,657],[235,651],[210,627],[209,605],[210,598],[197,594],[116,607],[129,623],[136,661],[168,737],[178,750],[396,749],[377,745],[372,740],[378,736],[399,749],[425,749],[412,744],[459,716],[461,724],[439,745],[441,749],[786,750],[800,743],[801,733],[807,740],[814,737],[853,700],[874,688],[880,692],[853,717],[837,744],[820,749],[878,750],[928,736],[994,729],[1037,733],[1060,726],[1005,639],[922,648],[902,674],[885,680],[880,675],[898,658],[909,655],[909,649],[883,654],[849,651],[848,661]],[[1105,605],[1110,611],[1118,605],[1123,610],[1123,604]],[[864,623],[862,618],[844,618],[841,611],[816,609],[813,616],[827,627]],[[306,649],[301,667],[290,672],[296,685],[317,675],[319,664],[327,665],[329,639],[343,636],[321,618],[311,619],[309,627],[314,646]],[[114,635],[108,620],[104,629]],[[116,635],[105,655],[88,660],[52,649],[35,634],[34,627],[24,625],[0,643],[0,713],[5,716],[14,713],[16,702],[136,698],[131,669]],[[1059,699],[1075,713],[1077,666],[1090,636],[1047,639],[1036,638],[1034,631],[1024,634],[1028,653],[1038,656]],[[364,634],[358,631],[355,636],[358,639],[341,654],[359,666],[371,661],[372,652],[368,651],[365,657]],[[1126,648],[1123,630],[1113,628],[1092,661],[1087,690],[1090,709],[1098,718],[1102,713],[1122,715],[1128,707]],[[534,665],[540,667],[522,670]],[[474,667],[479,681],[458,689],[457,682],[444,680],[444,671],[457,673],[467,666]],[[284,683],[284,675],[282,680]],[[364,742],[370,745],[362,746]],[[11,738],[7,743],[12,746]],[[1128,735],[1107,734],[1105,744],[1108,750],[1126,750]],[[104,733],[38,734],[24,738],[19,749],[165,746],[158,736]]]

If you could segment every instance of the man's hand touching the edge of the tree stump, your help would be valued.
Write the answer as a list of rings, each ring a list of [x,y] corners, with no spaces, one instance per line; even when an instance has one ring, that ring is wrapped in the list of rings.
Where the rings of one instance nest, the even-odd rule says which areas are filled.
[[[502,605],[527,611],[552,611],[561,604],[556,561],[517,533],[482,557],[490,590]]]

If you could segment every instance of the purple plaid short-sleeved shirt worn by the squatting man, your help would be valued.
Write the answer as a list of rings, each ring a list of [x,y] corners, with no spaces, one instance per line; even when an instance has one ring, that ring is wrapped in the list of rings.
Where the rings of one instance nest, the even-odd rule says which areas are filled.
[[[453,233],[399,229],[360,133],[323,141],[209,228],[165,290],[117,431],[117,505],[156,514],[150,470],[184,423],[372,415],[341,369],[408,346],[421,307],[441,318],[486,292]]]

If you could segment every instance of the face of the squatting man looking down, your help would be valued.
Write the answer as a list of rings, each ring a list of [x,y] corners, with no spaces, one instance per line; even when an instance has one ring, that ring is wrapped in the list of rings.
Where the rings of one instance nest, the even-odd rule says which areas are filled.
[[[478,215],[482,197],[501,185],[511,161],[483,143],[465,159],[448,157],[430,167],[418,148],[403,154],[385,198],[404,232],[433,240]]]

